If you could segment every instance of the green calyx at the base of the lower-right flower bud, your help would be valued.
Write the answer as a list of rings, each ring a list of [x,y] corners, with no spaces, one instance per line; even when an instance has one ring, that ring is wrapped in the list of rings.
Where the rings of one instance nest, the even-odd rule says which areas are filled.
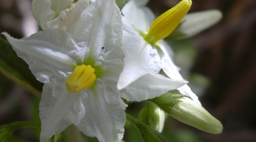
[[[170,108],[177,102],[180,102],[179,98],[183,96],[186,95],[166,93],[153,99],[149,99],[149,101],[157,104],[157,106],[160,107],[160,109],[169,114]]]

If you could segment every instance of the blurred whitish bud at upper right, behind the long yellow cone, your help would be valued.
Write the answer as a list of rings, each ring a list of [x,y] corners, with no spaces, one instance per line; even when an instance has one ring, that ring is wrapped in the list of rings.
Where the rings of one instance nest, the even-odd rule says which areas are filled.
[[[181,21],[181,26],[177,29],[177,32],[183,33],[179,39],[189,38],[196,35],[199,32],[216,24],[222,18],[222,13],[217,10],[207,10],[200,12],[188,13]]]

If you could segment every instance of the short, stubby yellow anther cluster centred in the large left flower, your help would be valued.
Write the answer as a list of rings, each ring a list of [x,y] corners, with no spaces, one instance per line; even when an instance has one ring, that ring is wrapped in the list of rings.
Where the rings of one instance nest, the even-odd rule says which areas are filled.
[[[78,92],[91,87],[96,79],[95,69],[90,65],[76,66],[74,72],[67,78],[66,86],[69,91]]]

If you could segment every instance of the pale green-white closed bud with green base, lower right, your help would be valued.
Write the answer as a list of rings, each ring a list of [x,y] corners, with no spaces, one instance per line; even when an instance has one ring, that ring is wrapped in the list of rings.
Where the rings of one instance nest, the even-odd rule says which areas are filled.
[[[164,94],[150,101],[157,104],[173,118],[187,125],[212,134],[222,132],[221,122],[187,96]]]

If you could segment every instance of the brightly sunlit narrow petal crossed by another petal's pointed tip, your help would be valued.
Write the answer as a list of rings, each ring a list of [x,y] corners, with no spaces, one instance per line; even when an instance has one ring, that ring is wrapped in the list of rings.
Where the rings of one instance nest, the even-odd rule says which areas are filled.
[[[165,56],[163,58],[163,64],[162,64],[162,69],[172,79],[183,79],[180,73],[177,70],[177,67],[174,65],[173,61]],[[195,93],[191,91],[191,89],[188,87],[187,84],[184,86],[178,88],[181,94],[189,96],[191,99],[193,99],[196,103],[201,105],[201,103],[198,100],[198,97],[196,96]]]

